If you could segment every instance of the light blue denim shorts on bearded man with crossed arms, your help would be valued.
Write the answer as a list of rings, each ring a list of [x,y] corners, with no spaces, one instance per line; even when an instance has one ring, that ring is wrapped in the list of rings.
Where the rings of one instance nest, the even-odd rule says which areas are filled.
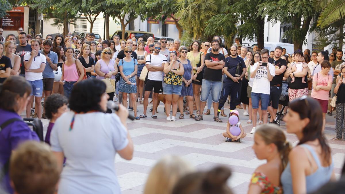
[[[203,79],[203,84],[201,85],[200,101],[206,102],[208,95],[211,93],[212,101],[214,103],[219,103],[220,91],[221,91],[221,81],[212,81],[212,80]]]

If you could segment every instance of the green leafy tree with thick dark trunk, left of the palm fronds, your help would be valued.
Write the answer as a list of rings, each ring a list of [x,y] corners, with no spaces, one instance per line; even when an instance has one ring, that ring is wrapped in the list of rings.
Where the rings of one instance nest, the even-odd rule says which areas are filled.
[[[273,23],[291,23],[292,29],[285,31],[284,36],[292,37],[295,50],[302,50],[311,20],[317,14],[310,0],[265,0],[258,8],[259,13],[267,15]]]

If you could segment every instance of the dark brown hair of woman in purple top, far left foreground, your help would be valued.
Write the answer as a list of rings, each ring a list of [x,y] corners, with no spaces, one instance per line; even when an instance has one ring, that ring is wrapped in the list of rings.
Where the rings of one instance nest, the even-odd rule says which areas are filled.
[[[0,85],[0,108],[12,112],[18,111],[17,98],[28,96],[31,86],[22,76],[10,76]]]

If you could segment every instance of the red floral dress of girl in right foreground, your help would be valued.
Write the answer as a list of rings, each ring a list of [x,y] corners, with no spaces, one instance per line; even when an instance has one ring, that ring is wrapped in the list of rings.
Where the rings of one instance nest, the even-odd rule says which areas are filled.
[[[250,184],[259,185],[262,190],[261,193],[263,194],[282,194],[283,190],[280,187],[274,186],[269,180],[266,175],[261,172],[255,172],[252,175],[252,180],[250,180]]]

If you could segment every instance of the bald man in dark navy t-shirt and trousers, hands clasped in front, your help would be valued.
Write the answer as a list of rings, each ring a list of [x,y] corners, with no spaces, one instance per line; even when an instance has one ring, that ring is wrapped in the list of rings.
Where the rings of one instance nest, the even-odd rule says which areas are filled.
[[[235,110],[237,104],[236,102],[238,101],[237,93],[241,87],[241,78],[243,78],[247,71],[243,58],[237,56],[237,47],[235,45],[230,47],[230,53],[231,55],[225,59],[224,74],[226,75],[226,79],[224,79],[224,86],[221,90],[221,97],[218,105],[218,115],[229,95],[231,96],[230,109]],[[236,72],[237,66],[239,66],[242,72]]]

